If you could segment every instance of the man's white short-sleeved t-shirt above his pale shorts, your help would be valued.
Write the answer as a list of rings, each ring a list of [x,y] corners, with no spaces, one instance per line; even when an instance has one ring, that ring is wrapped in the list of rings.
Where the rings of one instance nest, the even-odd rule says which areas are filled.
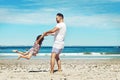
[[[64,48],[64,38],[66,33],[66,24],[64,22],[58,23],[56,27],[59,28],[54,34],[54,48],[63,49]]]

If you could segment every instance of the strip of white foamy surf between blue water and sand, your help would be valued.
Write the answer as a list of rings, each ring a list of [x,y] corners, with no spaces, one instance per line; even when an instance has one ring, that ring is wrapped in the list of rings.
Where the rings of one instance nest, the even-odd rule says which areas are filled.
[[[91,52],[92,54],[84,53],[61,53],[61,59],[120,59],[120,54],[100,54]],[[33,56],[32,59],[50,59],[51,53],[39,53]],[[0,53],[0,60],[17,59],[17,53]]]

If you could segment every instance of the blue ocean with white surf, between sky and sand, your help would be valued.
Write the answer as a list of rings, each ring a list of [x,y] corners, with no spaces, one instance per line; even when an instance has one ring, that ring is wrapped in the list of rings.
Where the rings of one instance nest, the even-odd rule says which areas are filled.
[[[26,52],[32,46],[0,46],[0,59],[16,59],[17,54],[12,50]],[[52,47],[43,46],[33,59],[49,59]],[[65,46],[62,59],[120,59],[120,46]]]

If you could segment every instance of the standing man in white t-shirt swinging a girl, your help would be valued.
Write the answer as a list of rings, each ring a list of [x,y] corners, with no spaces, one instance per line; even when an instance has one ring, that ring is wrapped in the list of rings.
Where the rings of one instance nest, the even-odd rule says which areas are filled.
[[[48,36],[50,34],[54,35],[54,45],[52,48],[50,60],[51,65],[50,73],[54,73],[55,60],[57,61],[58,71],[59,72],[61,71],[61,61],[59,55],[62,52],[62,49],[64,48],[64,38],[66,33],[66,25],[64,23],[63,14],[58,13],[56,15],[56,21],[57,25],[52,30],[49,30],[43,34],[44,36]]]

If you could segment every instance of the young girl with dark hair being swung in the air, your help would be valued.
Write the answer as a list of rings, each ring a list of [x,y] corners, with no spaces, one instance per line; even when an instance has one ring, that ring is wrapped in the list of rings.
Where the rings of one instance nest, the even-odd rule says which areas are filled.
[[[30,48],[27,52],[21,52],[18,50],[13,50],[13,52],[20,54],[20,56],[18,57],[18,60],[20,58],[25,58],[25,59],[29,60],[32,56],[36,56],[36,54],[38,54],[43,40],[44,40],[44,35],[39,35],[37,37],[33,47]]]

